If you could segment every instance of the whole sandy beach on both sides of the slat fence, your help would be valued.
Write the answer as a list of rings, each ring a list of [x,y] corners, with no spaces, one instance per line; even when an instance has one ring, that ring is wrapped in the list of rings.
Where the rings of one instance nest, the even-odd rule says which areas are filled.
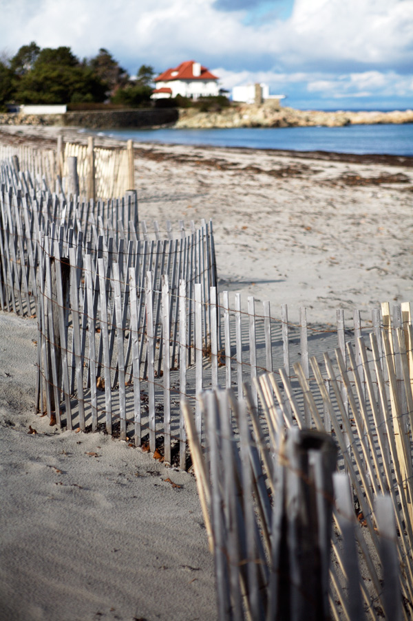
[[[87,140],[8,126],[0,143],[54,147],[58,133]],[[317,325],[412,300],[413,158],[134,146],[140,220],[212,219],[221,291],[269,300],[274,317],[288,304],[293,322],[306,306]],[[35,340],[36,320],[0,312],[0,619],[217,618],[193,476],[36,417]]]

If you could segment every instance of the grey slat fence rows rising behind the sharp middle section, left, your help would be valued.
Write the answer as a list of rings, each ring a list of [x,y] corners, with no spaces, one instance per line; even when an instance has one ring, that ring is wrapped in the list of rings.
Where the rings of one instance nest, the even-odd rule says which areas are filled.
[[[50,193],[30,199],[27,193],[24,196],[20,190],[14,193],[3,184],[0,188],[3,309],[13,309],[26,316],[35,314],[39,257],[44,252],[43,246],[39,246],[42,235],[50,237],[50,243],[58,243],[65,256],[69,248],[75,247],[76,256],[91,254],[94,263],[105,257],[109,267],[112,261],[125,264],[125,270],[139,263],[144,272],[154,272],[156,286],[160,286],[161,273],[170,274],[172,288],[178,287],[181,277],[192,280],[197,277],[202,279],[208,298],[209,287],[216,283],[211,221],[202,220],[198,229],[193,221],[189,229],[180,221],[176,230],[168,221],[165,231],[154,221],[153,232],[149,232],[145,221],[138,223],[136,193],[107,202],[77,200],[67,204]]]

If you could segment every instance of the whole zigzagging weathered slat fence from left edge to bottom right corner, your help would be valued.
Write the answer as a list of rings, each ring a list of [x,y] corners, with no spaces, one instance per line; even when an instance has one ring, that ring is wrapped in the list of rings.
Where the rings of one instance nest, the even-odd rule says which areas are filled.
[[[231,300],[218,292],[211,222],[198,229],[191,223],[190,230],[180,222],[176,234],[170,223],[164,231],[153,223],[151,234],[138,222],[136,193],[106,201],[65,195],[63,186],[50,193],[44,173],[42,179],[17,168],[0,164],[0,305],[36,315],[39,411],[70,429],[119,435],[180,468],[189,463],[189,439],[221,619],[290,618],[285,611],[304,619],[312,591],[294,552],[304,540],[284,508],[306,497],[317,505],[313,545],[324,559],[319,618],[389,615],[392,591],[392,620],[410,618],[410,303],[383,303],[364,323],[359,311],[350,323],[338,310],[337,327],[311,324],[301,308],[294,324],[286,305],[279,318],[269,302],[261,310],[253,297],[244,303],[240,294]],[[203,393],[220,386],[225,393]],[[285,443],[284,428],[291,430]],[[339,470],[350,479],[351,492],[337,479],[334,502],[331,472],[317,478],[323,450],[321,457],[310,451],[304,475],[294,465],[311,428],[338,444]],[[331,447],[325,438],[317,442]],[[320,501],[306,492],[308,481],[330,490],[328,503],[326,494]],[[366,527],[352,524],[354,503]],[[284,535],[293,545],[290,565],[279,565]],[[352,537],[365,580],[351,565]],[[375,567],[383,554],[390,558],[384,587]]]

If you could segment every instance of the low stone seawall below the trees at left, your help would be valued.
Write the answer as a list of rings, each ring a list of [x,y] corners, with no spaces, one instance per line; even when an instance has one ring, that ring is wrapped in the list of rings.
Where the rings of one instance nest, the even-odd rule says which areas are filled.
[[[65,114],[0,114],[4,125],[61,125],[87,129],[130,129],[173,125],[176,108],[66,112]]]

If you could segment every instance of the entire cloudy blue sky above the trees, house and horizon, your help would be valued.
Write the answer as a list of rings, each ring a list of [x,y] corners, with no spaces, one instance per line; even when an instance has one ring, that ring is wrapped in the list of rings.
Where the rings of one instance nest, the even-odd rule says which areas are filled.
[[[413,0],[0,0],[0,18],[8,56],[105,47],[130,74],[199,61],[303,109],[413,107]]]

